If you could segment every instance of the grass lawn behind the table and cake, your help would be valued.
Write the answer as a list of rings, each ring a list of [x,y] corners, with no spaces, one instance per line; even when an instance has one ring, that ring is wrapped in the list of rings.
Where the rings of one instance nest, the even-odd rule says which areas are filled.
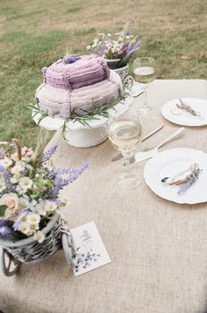
[[[206,0],[0,0],[0,140],[35,147],[38,127],[27,109],[41,68],[66,51],[87,52],[98,31],[128,23],[137,56],[152,56],[157,78],[207,77]]]

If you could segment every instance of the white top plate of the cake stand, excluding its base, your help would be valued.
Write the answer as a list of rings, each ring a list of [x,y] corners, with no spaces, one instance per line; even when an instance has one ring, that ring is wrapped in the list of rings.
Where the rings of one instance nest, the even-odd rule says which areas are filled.
[[[133,97],[131,96],[131,94],[129,94],[129,96],[124,101],[121,101],[116,106],[113,106],[113,108],[109,109],[108,112],[109,114],[113,114],[113,115],[122,114],[126,110],[128,110],[128,106],[130,106],[132,102],[133,102]],[[32,112],[32,118],[35,121],[35,123],[37,123],[39,126],[43,128],[46,128],[46,130],[49,130],[49,131],[59,130],[64,123],[63,118],[52,117],[52,116],[46,116],[41,120],[40,123],[38,123],[39,119],[41,119],[41,116],[42,116],[41,114],[35,114],[35,112]],[[108,121],[108,118],[101,116],[101,115],[95,115],[95,117],[98,118],[98,120],[88,121],[87,124],[89,126],[83,125],[79,122],[73,123],[72,121],[70,121],[67,123],[67,128],[70,129],[70,131],[77,131],[79,129],[88,129],[88,128],[94,129],[94,128],[101,127]]]

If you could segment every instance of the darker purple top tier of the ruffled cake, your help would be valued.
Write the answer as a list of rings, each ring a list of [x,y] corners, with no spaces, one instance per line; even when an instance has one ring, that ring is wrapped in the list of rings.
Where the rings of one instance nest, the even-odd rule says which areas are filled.
[[[71,91],[109,78],[107,63],[98,55],[71,56],[68,60],[70,59],[70,63],[60,59],[49,67],[44,67],[44,83],[56,89]]]

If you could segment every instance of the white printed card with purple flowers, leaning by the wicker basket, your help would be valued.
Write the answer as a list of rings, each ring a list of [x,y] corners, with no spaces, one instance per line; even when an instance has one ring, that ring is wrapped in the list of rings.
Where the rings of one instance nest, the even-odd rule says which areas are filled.
[[[112,262],[95,222],[83,224],[71,229],[70,232],[78,253],[77,266],[73,268],[75,276]]]

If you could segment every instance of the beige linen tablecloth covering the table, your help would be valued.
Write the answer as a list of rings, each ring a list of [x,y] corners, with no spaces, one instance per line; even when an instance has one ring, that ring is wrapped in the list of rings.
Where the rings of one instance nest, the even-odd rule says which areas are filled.
[[[153,147],[178,128],[161,116],[161,106],[176,97],[207,99],[205,80],[155,80],[149,88],[153,107],[144,131],[164,123],[145,141]],[[135,99],[141,106],[142,98]],[[178,205],[156,196],[145,184],[121,190],[122,161],[107,140],[95,148],[72,148],[59,139],[58,167],[89,163],[79,179],[62,192],[70,228],[95,221],[112,263],[74,277],[63,252],[17,275],[0,273],[0,309],[5,313],[190,313],[207,311],[207,204]],[[207,152],[207,127],[186,128],[162,148]],[[132,165],[143,174],[145,162]],[[207,184],[206,184],[207,187]]]

